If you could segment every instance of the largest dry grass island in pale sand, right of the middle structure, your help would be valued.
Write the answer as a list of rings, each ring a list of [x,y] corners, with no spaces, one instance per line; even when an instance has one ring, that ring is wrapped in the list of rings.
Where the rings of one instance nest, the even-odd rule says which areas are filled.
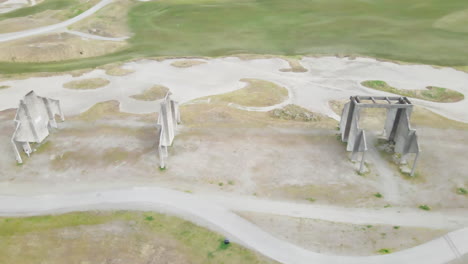
[[[203,97],[201,100],[210,99],[210,103],[263,107],[279,104],[288,98],[288,90],[275,83],[257,79],[241,81],[246,82],[247,86],[233,92]]]

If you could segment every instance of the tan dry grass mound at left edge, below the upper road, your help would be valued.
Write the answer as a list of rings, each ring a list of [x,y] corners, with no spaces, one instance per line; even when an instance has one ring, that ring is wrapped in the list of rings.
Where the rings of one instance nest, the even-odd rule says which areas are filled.
[[[0,61],[51,62],[117,52],[125,42],[82,39],[68,33],[51,33],[0,43]]]

